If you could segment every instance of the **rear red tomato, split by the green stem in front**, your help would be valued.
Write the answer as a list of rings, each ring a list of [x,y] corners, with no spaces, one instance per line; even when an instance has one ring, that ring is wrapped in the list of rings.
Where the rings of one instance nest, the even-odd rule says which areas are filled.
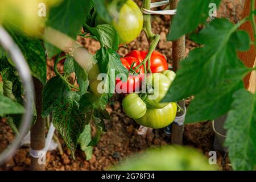
[[[135,57],[136,59],[142,62],[146,58],[147,52],[148,51],[134,50],[128,53],[125,57],[128,57],[128,56]],[[164,55],[162,55],[162,53],[158,51],[152,52],[150,63],[151,63],[150,69],[152,73],[158,73],[168,69],[166,57],[164,57]]]

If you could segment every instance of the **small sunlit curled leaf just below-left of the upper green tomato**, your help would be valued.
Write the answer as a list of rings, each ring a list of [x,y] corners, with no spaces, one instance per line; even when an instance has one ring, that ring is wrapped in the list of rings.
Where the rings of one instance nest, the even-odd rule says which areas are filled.
[[[95,28],[86,28],[100,41],[102,47],[106,46],[117,51],[119,46],[119,38],[115,28],[109,24],[100,24]]]

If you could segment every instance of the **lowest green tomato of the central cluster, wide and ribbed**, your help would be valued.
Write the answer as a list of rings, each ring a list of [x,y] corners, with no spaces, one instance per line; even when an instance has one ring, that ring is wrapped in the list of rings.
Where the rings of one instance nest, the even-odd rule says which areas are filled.
[[[177,113],[177,105],[175,102],[170,102],[162,109],[147,108],[146,114],[143,117],[134,119],[139,125],[151,127],[153,129],[161,129],[170,125]]]

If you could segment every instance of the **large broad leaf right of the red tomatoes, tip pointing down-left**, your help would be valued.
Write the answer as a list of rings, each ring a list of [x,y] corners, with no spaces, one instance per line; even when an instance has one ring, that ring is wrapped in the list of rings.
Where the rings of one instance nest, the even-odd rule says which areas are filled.
[[[216,88],[224,80],[242,80],[250,69],[238,60],[236,47],[230,41],[235,31],[236,27],[228,20],[214,19],[198,35],[193,35],[192,39],[204,46],[194,49],[181,61],[163,101],[182,100],[204,89]]]

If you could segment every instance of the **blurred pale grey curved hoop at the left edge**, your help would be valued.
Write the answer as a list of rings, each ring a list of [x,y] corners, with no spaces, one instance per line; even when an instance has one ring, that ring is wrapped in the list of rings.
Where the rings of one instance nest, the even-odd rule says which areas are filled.
[[[16,135],[13,143],[0,154],[0,164],[2,164],[7,159],[9,159],[10,156],[13,155],[13,153],[15,152],[16,148],[19,147],[20,142],[22,141],[24,135],[26,135],[27,130],[30,126],[30,123],[32,121],[32,101],[34,100],[34,84],[30,75],[30,68],[27,65],[27,61],[24,59],[22,52],[15,44],[9,33],[2,26],[0,26],[0,44],[6,51],[9,52],[11,59],[14,61],[15,67],[22,79],[22,84],[24,86],[27,101],[26,103],[24,103],[26,112],[22,115],[22,121],[19,127],[19,135]]]

